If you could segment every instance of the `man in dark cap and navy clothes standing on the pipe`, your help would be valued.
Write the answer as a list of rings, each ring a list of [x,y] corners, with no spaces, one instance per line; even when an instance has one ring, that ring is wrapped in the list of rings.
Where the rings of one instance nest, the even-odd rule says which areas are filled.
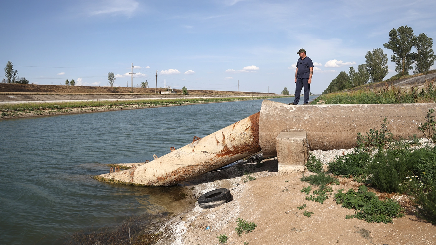
[[[309,103],[309,90],[312,83],[313,62],[306,56],[306,50],[300,49],[297,54],[300,59],[297,61],[297,69],[295,70],[295,99],[290,104],[298,104],[300,102],[301,89],[304,87],[304,102]]]

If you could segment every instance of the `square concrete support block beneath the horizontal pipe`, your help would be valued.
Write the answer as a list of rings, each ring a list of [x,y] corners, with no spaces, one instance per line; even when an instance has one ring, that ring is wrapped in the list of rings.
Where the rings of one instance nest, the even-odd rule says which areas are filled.
[[[277,138],[279,172],[304,171],[309,158],[306,131],[281,132]]]

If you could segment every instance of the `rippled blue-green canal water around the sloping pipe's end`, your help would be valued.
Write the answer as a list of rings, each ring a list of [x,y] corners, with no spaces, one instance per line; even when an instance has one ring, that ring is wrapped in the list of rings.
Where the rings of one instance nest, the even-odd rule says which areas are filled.
[[[313,96],[311,99],[315,98]],[[273,101],[290,103],[293,98]],[[109,163],[162,156],[260,110],[262,100],[0,121],[0,243],[61,244],[74,232],[176,208],[172,191],[109,185]]]

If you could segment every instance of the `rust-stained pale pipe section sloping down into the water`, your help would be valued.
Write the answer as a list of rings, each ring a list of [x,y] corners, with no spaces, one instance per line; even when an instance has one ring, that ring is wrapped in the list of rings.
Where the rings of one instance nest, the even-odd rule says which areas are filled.
[[[140,167],[94,178],[127,185],[175,185],[258,151],[259,112]]]

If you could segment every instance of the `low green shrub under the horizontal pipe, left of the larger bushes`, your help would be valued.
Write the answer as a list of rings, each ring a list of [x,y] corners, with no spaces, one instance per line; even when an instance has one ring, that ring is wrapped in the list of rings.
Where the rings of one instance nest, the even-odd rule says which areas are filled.
[[[328,163],[328,172],[334,175],[361,176],[366,175],[365,167],[371,161],[366,151],[354,151],[344,156],[336,156]]]

